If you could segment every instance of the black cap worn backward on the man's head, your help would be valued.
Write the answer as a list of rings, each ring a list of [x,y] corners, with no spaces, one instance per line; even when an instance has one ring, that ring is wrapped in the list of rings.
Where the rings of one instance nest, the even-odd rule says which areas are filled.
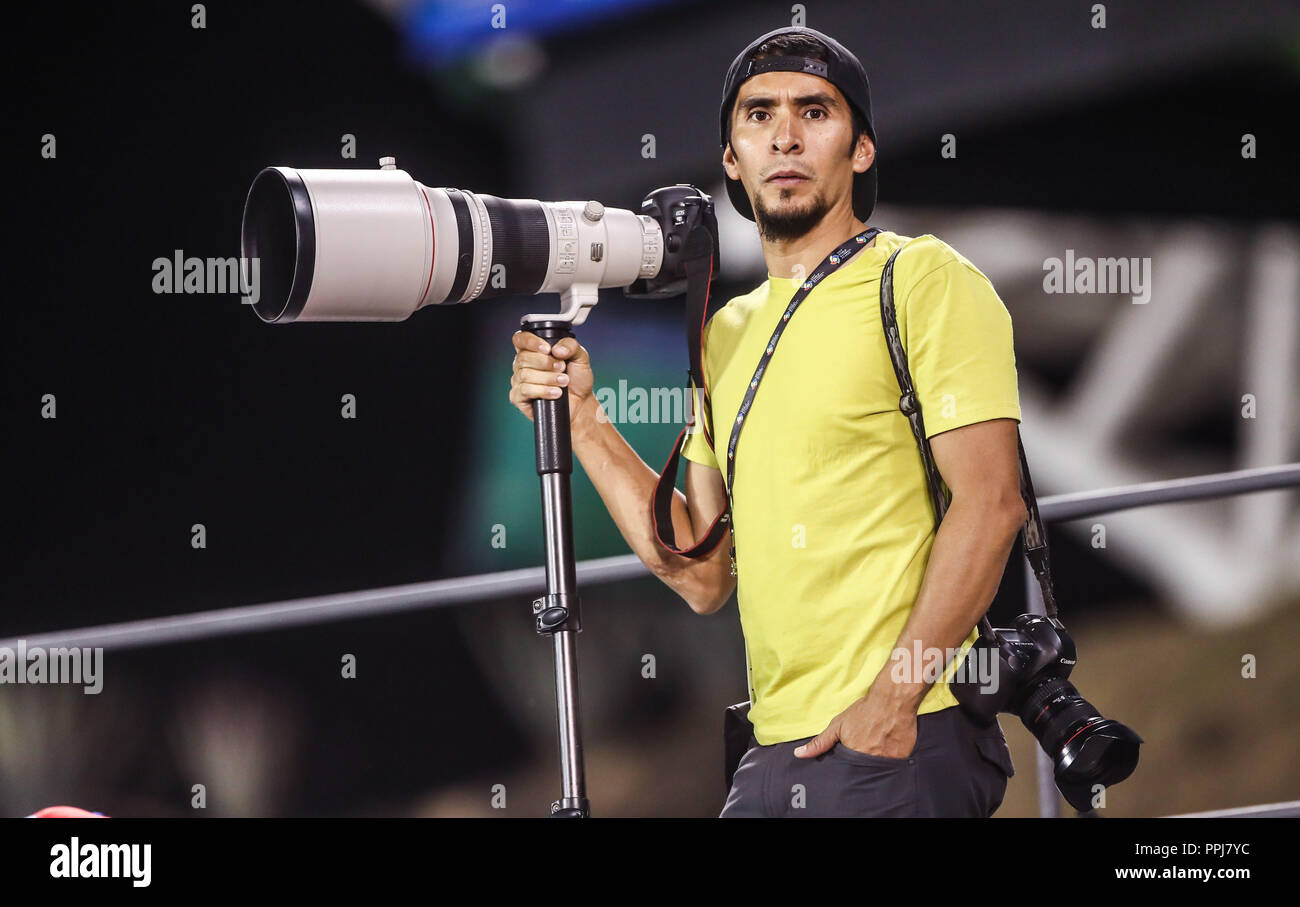
[[[775,56],[758,61],[750,58],[763,42],[771,40],[777,35],[802,35],[819,42],[826,47],[827,62],[801,56]],[[845,100],[862,116],[862,120],[867,125],[867,135],[871,136],[872,144],[876,143],[876,130],[871,123],[871,88],[867,84],[867,71],[862,68],[858,58],[844,44],[829,35],[822,34],[816,29],[786,26],[755,38],[749,47],[740,52],[740,56],[732,61],[731,68],[727,70],[727,79],[723,82],[723,104],[719,112],[722,127],[720,147],[725,148],[731,138],[731,112],[741,83],[759,73],[771,71],[809,73],[810,75],[819,75],[833,84],[844,95]],[[871,212],[876,207],[878,169],[876,161],[871,161],[871,166],[866,173],[858,173],[853,177],[853,213],[863,224],[867,222],[867,218],[871,217]],[[725,177],[725,173],[723,175]],[[744,217],[753,221],[754,209],[749,204],[745,187],[738,179],[732,179],[731,177],[725,177],[725,179],[727,195],[731,198],[732,205]]]

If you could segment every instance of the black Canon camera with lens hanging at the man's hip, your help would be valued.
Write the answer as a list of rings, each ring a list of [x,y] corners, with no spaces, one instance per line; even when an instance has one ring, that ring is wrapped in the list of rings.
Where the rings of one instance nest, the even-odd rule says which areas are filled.
[[[1075,810],[1092,808],[1096,786],[1119,784],[1138,767],[1143,739],[1079,695],[1070,682],[1074,639],[1056,617],[1020,615],[1014,626],[982,633],[949,689],[980,724],[998,712],[1020,722],[1052,756],[1056,784]],[[974,659],[974,660],[972,660]],[[980,671],[980,668],[985,668]],[[992,677],[988,674],[994,672]]]

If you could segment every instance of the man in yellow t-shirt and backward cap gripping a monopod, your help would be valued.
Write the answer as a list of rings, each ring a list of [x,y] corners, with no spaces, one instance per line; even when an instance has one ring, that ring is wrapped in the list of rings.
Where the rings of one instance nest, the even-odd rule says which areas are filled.
[[[867,230],[875,203],[866,73],[827,35],[779,29],[751,43],[728,73],[720,125],[728,192],[758,224],[768,278],[705,329],[722,456],[702,431],[682,448],[672,520],[692,539],[727,505],[731,425],[792,295]],[[904,244],[898,330],[952,492],[937,531],[879,308],[881,269]],[[1026,520],[1011,322],[984,274],[932,235],[885,230],[806,296],[736,450],[737,576],[727,543],[689,559],[658,542],[658,477],[597,418],[586,350],[524,333],[515,347],[511,402],[532,418],[532,399],[568,387],[575,452],[641,560],[698,613],[737,591],[754,734],[724,817],[993,813],[1014,773],[1001,728],[972,722],[915,658],[974,642]]]

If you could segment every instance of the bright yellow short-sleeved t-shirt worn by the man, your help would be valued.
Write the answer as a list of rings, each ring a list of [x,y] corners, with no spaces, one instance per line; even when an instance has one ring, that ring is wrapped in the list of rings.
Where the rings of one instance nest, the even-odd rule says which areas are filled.
[[[904,243],[894,307],[927,437],[1020,418],[1010,314],[989,279],[936,236],[881,231],[800,303],[736,448],[737,600],[749,716],[764,746],[820,733],[867,693],[935,541],[880,324],[880,273]],[[682,455],[720,468],[724,482],[732,424],[794,288],[768,275],[705,327],[718,457],[703,431],[688,434]],[[965,645],[975,638],[972,629]],[[918,713],[956,704],[939,681]]]

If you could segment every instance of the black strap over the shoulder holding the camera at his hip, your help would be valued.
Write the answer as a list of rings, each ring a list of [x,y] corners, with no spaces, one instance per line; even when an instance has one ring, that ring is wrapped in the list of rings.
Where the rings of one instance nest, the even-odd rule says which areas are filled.
[[[885,344],[889,347],[889,359],[893,361],[898,390],[902,391],[902,396],[898,398],[898,408],[911,425],[911,434],[916,439],[916,448],[920,451],[920,459],[926,466],[926,482],[930,487],[931,503],[935,505],[935,525],[937,526],[942,521],[944,513],[948,512],[949,498],[944,491],[939,466],[935,465],[930,439],[926,438],[926,422],[922,418],[920,402],[916,399],[916,391],[911,383],[911,373],[907,370],[907,352],[904,350],[902,339],[898,335],[898,320],[893,303],[893,266],[900,252],[902,252],[902,248],[894,249],[893,255],[885,262],[884,270],[880,273],[880,322],[884,325]],[[1030,479],[1030,464],[1024,457],[1024,444],[1020,442],[1019,425],[1015,426],[1015,447],[1020,459],[1020,498],[1024,500],[1024,509],[1028,512],[1024,526],[1020,529],[1024,539],[1024,557],[1030,561],[1034,576],[1039,581],[1039,587],[1043,590],[1043,604],[1048,617],[1056,617],[1056,593],[1052,587],[1048,534],[1043,528],[1043,520],[1039,517],[1039,504],[1034,496],[1034,483]],[[987,616],[980,619],[980,628],[987,635],[992,635],[992,628],[988,625]]]

